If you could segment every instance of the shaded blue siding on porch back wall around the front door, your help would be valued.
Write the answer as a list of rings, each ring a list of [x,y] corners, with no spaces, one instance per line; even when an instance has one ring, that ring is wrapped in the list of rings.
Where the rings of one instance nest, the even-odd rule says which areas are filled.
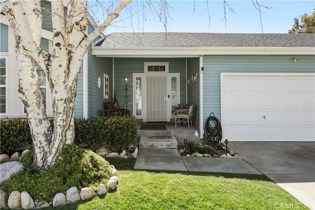
[[[115,58],[115,91],[118,103],[124,108],[126,101],[126,83],[127,77],[130,82],[127,83],[128,104],[127,109],[132,114],[132,73],[144,73],[144,62],[169,62],[170,73],[180,73],[181,75],[181,103],[186,103],[186,59],[158,59],[158,58]]]

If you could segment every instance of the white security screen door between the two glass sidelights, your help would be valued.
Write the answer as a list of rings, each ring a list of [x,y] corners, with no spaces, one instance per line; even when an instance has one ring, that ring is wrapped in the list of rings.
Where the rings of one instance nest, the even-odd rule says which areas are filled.
[[[147,77],[147,121],[167,121],[167,76]]]

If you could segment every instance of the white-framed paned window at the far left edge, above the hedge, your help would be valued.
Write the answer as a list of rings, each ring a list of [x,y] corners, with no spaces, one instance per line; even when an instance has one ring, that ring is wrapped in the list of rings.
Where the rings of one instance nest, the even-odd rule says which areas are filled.
[[[7,114],[7,58],[0,58],[0,114]]]

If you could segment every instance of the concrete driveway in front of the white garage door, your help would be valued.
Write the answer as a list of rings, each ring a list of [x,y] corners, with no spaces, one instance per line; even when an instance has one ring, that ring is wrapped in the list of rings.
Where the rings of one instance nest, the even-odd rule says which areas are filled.
[[[315,142],[229,142],[228,148],[315,210]]]

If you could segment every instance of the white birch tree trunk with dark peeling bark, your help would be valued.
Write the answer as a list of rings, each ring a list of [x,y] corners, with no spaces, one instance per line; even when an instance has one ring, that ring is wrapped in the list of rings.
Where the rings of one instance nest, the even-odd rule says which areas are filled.
[[[130,1],[123,0],[96,30],[87,35],[84,0],[52,0],[54,36],[50,54],[39,48],[42,26],[40,0],[10,0],[10,6],[3,6],[2,12],[8,18],[16,40],[19,92],[32,134],[34,168],[49,169],[58,160],[63,146],[73,144],[74,102],[83,57],[91,42]],[[64,6],[67,7],[66,17]],[[51,90],[53,134],[38,83],[36,63],[44,69]]]

